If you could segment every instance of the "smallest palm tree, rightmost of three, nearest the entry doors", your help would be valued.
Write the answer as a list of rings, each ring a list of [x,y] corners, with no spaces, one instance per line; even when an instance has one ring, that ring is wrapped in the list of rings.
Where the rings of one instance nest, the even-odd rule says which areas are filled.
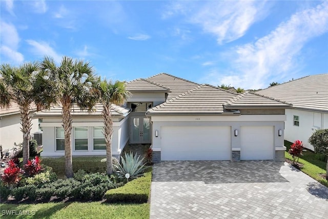
[[[113,173],[112,161],[112,134],[113,119],[111,114],[112,106],[124,104],[130,92],[125,88],[125,82],[112,82],[104,79],[99,85],[100,102],[103,104],[104,135],[106,142],[107,174]]]

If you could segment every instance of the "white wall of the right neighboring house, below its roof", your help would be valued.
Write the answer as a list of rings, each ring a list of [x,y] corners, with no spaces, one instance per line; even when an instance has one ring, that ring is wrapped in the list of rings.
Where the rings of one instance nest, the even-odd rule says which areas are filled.
[[[294,125],[294,115],[299,116],[299,126]],[[316,129],[328,128],[328,113],[286,109],[285,140],[294,142],[300,140],[306,148],[313,150],[308,142]]]

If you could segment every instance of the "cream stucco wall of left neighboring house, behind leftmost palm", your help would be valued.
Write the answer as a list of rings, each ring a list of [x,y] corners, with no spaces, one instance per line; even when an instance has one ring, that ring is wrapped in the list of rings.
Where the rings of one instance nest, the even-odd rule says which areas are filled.
[[[14,144],[17,145],[23,142],[23,133],[20,131],[22,125],[20,125],[19,114],[1,116],[0,120],[0,145],[3,150],[11,149]],[[32,119],[31,135],[38,131],[38,119]]]

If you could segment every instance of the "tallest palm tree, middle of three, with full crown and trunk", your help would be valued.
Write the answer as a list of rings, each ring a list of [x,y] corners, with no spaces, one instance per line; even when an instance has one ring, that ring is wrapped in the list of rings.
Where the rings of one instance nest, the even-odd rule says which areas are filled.
[[[58,104],[63,107],[65,175],[70,178],[73,177],[71,108],[77,105],[80,109],[93,109],[97,102],[97,95],[93,92],[97,79],[89,63],[73,61],[67,56],[63,57],[59,67],[53,58],[45,57],[40,63],[40,69],[34,82],[35,103],[37,109],[49,109]]]

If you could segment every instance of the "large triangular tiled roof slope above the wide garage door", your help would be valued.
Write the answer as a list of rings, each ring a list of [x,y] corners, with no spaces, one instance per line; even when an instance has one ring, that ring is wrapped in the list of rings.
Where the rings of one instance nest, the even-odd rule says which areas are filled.
[[[222,114],[237,113],[223,109],[236,94],[226,92],[211,85],[198,85],[183,94],[173,97],[147,111],[147,114]]]

